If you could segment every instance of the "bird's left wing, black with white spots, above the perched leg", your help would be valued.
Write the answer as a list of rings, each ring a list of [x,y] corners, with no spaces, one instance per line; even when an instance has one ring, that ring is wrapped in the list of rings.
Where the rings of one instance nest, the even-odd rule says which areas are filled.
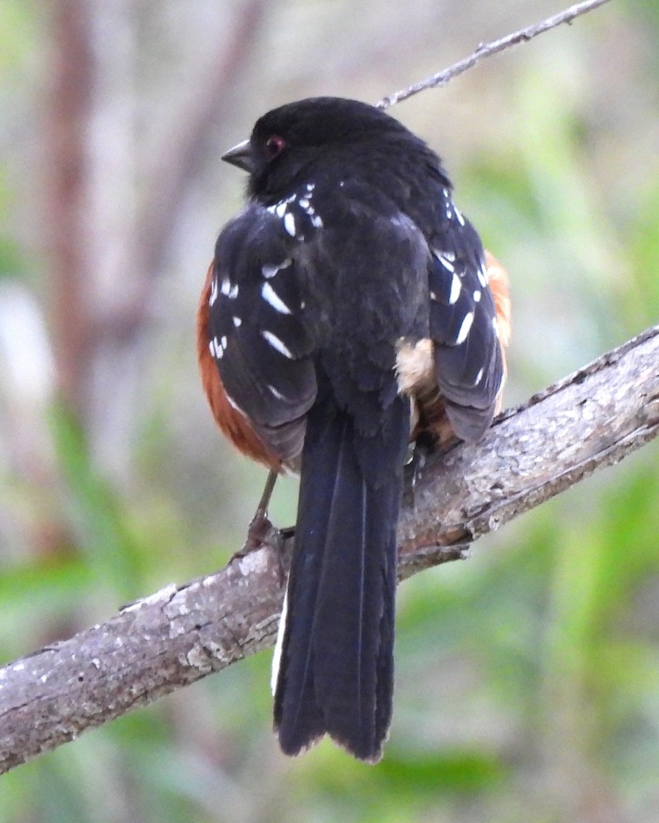
[[[251,204],[221,232],[208,297],[208,345],[230,406],[285,463],[304,441],[316,396],[295,242]]]

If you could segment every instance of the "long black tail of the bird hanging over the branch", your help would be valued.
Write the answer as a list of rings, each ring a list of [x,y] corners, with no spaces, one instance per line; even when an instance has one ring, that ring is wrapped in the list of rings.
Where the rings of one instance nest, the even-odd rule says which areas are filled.
[[[355,431],[327,398],[309,412],[295,551],[273,672],[282,751],[329,734],[378,760],[392,717],[396,524],[409,409]]]

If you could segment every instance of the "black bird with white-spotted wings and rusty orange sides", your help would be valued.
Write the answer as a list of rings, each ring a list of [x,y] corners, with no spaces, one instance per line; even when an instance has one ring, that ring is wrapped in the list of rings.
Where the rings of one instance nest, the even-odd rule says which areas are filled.
[[[202,289],[202,385],[240,452],[300,477],[274,728],[286,755],[327,735],[374,763],[408,454],[479,439],[500,411],[508,277],[439,156],[372,105],[282,105],[222,160],[247,197]]]

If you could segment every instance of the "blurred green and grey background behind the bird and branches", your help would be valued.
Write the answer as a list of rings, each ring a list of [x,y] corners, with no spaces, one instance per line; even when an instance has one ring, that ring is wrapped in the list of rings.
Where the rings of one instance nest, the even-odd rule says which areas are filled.
[[[264,472],[194,351],[222,151],[567,4],[0,0],[0,663],[242,544]],[[392,109],[509,269],[508,404],[659,318],[658,43],[615,0]],[[658,533],[651,444],[404,584],[378,766],[285,760],[263,653],[3,776],[0,823],[656,823]]]

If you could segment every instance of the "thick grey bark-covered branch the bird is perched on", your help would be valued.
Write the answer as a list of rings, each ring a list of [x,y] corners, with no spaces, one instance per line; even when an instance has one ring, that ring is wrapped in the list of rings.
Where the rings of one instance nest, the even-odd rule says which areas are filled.
[[[433,458],[399,524],[400,577],[466,549],[659,435],[659,326]],[[633,387],[633,391],[629,388]],[[0,669],[0,773],[270,646],[290,535]]]

